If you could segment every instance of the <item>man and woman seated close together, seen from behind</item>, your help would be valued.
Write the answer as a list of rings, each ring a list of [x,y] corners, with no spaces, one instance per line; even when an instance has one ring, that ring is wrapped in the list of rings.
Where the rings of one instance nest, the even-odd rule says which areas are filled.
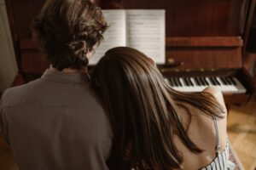
[[[90,0],[49,0],[34,20],[51,66],[0,104],[0,134],[20,170],[227,169],[218,90],[177,92],[133,48],[109,49],[84,73],[107,27]]]

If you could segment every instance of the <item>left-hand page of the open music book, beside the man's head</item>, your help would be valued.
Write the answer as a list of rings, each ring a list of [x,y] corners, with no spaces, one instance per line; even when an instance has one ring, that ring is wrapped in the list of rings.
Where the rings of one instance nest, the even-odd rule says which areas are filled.
[[[89,65],[96,65],[108,49],[126,45],[125,10],[102,10],[102,13],[109,27],[104,32],[104,40],[96,48],[96,53],[92,55]]]

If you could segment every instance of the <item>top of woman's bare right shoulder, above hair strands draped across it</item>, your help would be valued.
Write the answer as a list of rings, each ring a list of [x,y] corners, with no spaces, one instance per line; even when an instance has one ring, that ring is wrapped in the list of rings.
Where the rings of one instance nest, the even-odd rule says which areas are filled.
[[[216,101],[218,102],[219,105],[221,105],[224,109],[224,113],[227,113],[227,109],[226,109],[226,105],[224,103],[224,97],[223,94],[221,93],[221,91],[218,88],[214,88],[214,87],[208,87],[205,88],[203,90],[203,92],[207,92],[209,94],[212,94],[212,96],[214,97],[214,99],[216,99]]]

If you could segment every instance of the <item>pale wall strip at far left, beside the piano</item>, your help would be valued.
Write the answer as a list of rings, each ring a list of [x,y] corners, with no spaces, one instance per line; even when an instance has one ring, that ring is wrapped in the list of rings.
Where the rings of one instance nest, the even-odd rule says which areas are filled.
[[[17,72],[5,3],[0,0],[0,93],[11,85]]]

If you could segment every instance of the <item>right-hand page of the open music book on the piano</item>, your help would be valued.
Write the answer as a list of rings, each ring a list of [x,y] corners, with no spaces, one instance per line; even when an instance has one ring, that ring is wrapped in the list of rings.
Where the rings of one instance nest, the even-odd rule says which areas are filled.
[[[165,10],[126,10],[128,46],[137,48],[157,64],[166,60]]]

